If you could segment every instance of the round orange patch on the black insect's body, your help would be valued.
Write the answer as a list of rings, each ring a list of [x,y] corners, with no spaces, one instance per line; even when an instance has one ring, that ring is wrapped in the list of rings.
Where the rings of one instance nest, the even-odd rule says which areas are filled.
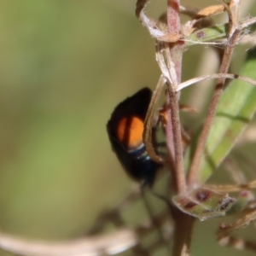
[[[125,117],[119,121],[117,137],[127,148],[137,148],[143,143],[143,120],[136,116]]]

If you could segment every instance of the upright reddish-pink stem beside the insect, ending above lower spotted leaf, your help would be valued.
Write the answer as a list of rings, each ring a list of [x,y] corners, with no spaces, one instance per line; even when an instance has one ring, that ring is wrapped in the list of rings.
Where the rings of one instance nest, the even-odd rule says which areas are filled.
[[[180,32],[179,0],[168,0],[167,2],[167,28],[168,32],[172,34]],[[177,194],[185,194],[186,180],[183,170],[183,148],[179,120],[178,94],[175,91],[177,84],[181,81],[183,51],[178,42],[177,44],[169,44],[168,46],[170,56],[167,56],[167,58],[170,58],[170,61],[174,64],[173,66],[170,65],[170,68],[175,68],[176,79],[172,78],[175,84],[171,84],[170,81],[167,81],[169,96],[166,102],[167,105],[171,106],[171,109],[168,111],[168,115],[171,116],[171,119],[167,121],[166,125],[166,143],[169,152],[172,151],[171,148],[174,148],[175,170],[172,171],[172,174],[174,174]]]

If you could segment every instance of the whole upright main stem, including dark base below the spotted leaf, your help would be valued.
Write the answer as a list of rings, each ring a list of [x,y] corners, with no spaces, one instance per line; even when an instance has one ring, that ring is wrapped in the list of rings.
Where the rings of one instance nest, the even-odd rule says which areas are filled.
[[[180,33],[180,17],[179,17],[179,0],[167,0],[167,27],[168,32],[172,34]],[[174,84],[170,80],[167,80],[168,96],[166,102],[171,106],[169,116],[171,119],[167,121],[166,125],[166,143],[170,152],[170,148],[174,146],[175,153],[175,170],[172,171],[174,174],[173,179],[175,181],[177,194],[186,194],[187,185],[185,179],[185,172],[183,166],[183,147],[181,137],[181,125],[179,120],[179,95],[175,91],[177,84],[181,82],[182,73],[182,57],[183,48],[182,42],[176,44],[169,44],[170,59],[177,78],[173,79]],[[168,56],[167,56],[168,57]],[[172,68],[172,65],[169,66]],[[170,72],[172,73],[172,72]],[[177,83],[177,84],[175,84]],[[171,144],[174,145],[171,145]],[[181,212],[177,207],[172,207],[172,217],[174,221],[174,242],[172,247],[172,255],[189,255],[190,240],[193,231],[194,219],[191,216]]]

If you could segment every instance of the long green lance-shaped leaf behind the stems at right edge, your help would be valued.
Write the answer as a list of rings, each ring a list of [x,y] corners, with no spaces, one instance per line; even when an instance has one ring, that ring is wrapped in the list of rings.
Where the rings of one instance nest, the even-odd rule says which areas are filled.
[[[241,75],[256,79],[256,48],[247,52]],[[241,80],[232,81],[224,90],[217,115],[207,140],[201,164],[201,181],[205,181],[234,147],[256,111],[256,87]]]

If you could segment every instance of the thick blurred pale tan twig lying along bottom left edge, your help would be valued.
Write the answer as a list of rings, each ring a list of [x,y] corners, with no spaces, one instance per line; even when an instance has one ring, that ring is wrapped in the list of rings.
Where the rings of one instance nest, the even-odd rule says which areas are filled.
[[[74,241],[32,241],[0,233],[0,247],[24,256],[96,256],[116,254],[134,247],[137,234],[134,230],[116,230],[113,234],[80,238]]]

